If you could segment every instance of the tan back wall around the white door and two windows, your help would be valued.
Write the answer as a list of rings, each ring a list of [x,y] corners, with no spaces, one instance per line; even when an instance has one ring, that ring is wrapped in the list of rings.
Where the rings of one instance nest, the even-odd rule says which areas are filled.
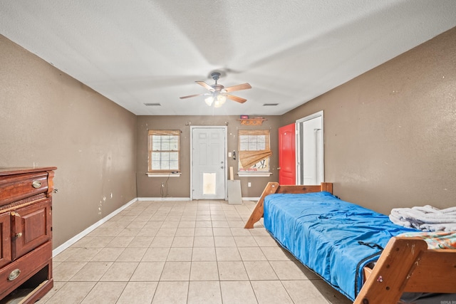
[[[271,133],[271,172],[270,177],[242,177],[239,178],[234,174],[234,179],[241,181],[241,190],[243,197],[258,197],[263,192],[268,182],[279,180],[277,166],[279,163],[277,157],[277,129],[279,127],[279,116],[265,117],[267,120],[263,125],[252,127],[241,125],[237,120],[239,116],[138,116],[138,196],[139,197],[161,197],[160,187],[162,182],[167,182],[168,196],[170,197],[190,197],[190,125],[192,126],[217,126],[227,125],[227,146],[228,152],[236,150],[238,130],[270,130]],[[148,130],[181,130],[180,146],[180,177],[147,177],[147,132]],[[238,154],[238,153],[237,153]],[[237,172],[237,160],[228,158],[228,167],[233,167]],[[228,172],[229,173],[229,172]],[[228,176],[227,176],[228,178]],[[251,182],[252,187],[247,187]]]

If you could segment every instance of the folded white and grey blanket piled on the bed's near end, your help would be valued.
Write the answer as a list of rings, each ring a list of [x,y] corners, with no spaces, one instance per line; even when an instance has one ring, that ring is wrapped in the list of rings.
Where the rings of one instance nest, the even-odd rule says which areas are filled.
[[[456,231],[456,207],[437,209],[426,205],[395,208],[389,217],[394,224],[422,231]]]

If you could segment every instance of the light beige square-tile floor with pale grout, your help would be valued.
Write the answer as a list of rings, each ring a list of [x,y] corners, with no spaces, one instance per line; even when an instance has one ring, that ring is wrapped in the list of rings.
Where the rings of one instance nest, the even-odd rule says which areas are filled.
[[[284,251],[253,201],[137,201],[53,258],[38,303],[332,303],[350,300]]]

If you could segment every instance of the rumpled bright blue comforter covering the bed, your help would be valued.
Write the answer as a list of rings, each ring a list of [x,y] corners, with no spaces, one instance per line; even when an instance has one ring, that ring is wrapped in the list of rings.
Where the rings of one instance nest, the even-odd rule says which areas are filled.
[[[361,290],[363,266],[377,261],[391,236],[416,231],[328,192],[266,196],[264,226],[301,263],[351,300]]]

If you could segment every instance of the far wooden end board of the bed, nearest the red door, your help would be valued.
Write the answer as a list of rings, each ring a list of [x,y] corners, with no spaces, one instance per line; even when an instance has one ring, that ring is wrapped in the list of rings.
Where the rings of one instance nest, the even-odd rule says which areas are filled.
[[[250,215],[249,220],[245,224],[244,228],[252,229],[254,224],[257,223],[263,217],[263,204],[264,198],[266,195],[275,194],[275,193],[310,193],[310,192],[321,192],[326,191],[333,193],[333,184],[332,183],[321,183],[320,186],[304,186],[304,185],[279,185],[278,182],[269,182],[261,194],[257,206],[255,206],[254,211]]]

